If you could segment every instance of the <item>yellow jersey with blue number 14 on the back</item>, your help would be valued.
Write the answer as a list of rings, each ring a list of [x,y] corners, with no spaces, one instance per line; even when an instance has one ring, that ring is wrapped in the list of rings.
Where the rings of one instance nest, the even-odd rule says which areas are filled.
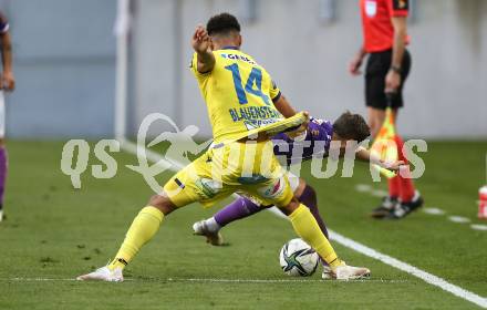
[[[237,141],[284,120],[273,105],[281,92],[266,69],[234,48],[213,53],[210,72],[198,72],[196,53],[191,71],[208,108],[215,143]]]

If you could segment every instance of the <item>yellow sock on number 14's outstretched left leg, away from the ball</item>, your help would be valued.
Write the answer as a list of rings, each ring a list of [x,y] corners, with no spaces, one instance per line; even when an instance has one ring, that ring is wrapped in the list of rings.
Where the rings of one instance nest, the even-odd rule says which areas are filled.
[[[143,208],[125,235],[125,240],[120,247],[115,258],[108,265],[110,269],[124,268],[148,240],[159,230],[164,214],[152,206]]]

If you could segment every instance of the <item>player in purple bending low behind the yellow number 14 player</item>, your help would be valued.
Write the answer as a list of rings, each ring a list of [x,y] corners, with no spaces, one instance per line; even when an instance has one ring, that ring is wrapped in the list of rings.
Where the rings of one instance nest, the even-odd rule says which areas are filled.
[[[286,134],[278,134],[272,138],[274,154],[286,158],[282,165],[299,164],[313,157],[324,158],[329,156],[332,141],[339,142],[340,155],[343,156],[349,141],[358,143],[365,140],[370,134],[365,120],[359,114],[343,113],[333,124],[311,117],[307,131],[299,137],[291,138]],[[297,151],[298,149],[298,151]],[[297,156],[298,154],[298,156]],[[371,157],[370,152],[363,147],[356,149],[356,158],[364,162],[373,162],[386,167],[388,164],[380,158]],[[394,163],[393,166],[401,165]],[[304,179],[289,173],[289,183],[296,197],[305,205],[315,218],[322,232],[329,238],[327,226],[318,208],[317,193]],[[249,217],[271,206],[263,206],[260,202],[248,196],[240,196],[230,205],[226,206],[213,217],[197,221],[193,225],[195,235],[205,236],[207,242],[214,246],[224,244],[220,229],[226,225]],[[330,279],[330,268],[323,262],[323,279]]]

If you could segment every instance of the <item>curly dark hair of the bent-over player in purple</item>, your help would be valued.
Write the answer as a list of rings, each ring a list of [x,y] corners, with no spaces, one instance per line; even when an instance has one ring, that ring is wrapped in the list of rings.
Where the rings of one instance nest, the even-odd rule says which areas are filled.
[[[354,140],[359,143],[371,135],[367,123],[359,114],[352,114],[346,111],[333,123],[333,132],[341,138]]]

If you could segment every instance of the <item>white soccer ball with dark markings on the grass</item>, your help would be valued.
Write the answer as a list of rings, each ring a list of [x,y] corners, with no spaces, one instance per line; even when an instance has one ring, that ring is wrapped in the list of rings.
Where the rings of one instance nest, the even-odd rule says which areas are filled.
[[[308,277],[314,273],[320,257],[302,239],[288,241],[279,254],[281,268],[288,276]]]

